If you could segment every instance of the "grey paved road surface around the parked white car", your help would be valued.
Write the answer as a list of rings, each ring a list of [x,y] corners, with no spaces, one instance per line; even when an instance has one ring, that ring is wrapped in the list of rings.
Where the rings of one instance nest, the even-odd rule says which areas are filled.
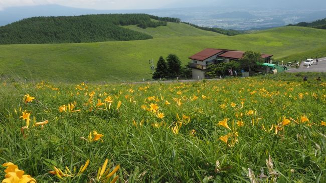
[[[295,73],[295,72],[326,72],[326,57],[324,58],[319,58],[318,59],[318,64],[316,64],[316,60],[313,59],[313,64],[310,66],[303,66],[303,62],[301,62],[300,68],[295,69],[295,68],[290,68],[288,67],[288,71],[285,72],[290,72],[290,73]]]

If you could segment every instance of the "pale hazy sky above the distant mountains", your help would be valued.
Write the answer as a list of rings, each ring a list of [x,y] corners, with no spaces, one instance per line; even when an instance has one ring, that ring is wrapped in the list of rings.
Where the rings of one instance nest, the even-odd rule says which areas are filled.
[[[0,9],[14,6],[57,4],[74,8],[99,10],[135,10],[185,8],[196,6],[237,6],[259,8],[322,8],[325,0],[0,0]]]

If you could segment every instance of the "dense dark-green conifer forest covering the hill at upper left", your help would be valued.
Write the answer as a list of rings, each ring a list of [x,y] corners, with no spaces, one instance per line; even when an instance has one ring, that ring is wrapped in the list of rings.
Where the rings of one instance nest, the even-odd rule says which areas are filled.
[[[85,43],[151,39],[121,26],[166,26],[146,14],[105,14],[71,17],[34,17],[0,27],[0,44]]]

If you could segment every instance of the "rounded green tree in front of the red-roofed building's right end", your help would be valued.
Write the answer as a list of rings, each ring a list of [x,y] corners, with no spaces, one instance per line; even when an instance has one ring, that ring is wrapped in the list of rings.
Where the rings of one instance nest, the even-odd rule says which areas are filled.
[[[264,63],[264,59],[261,58],[260,53],[256,53],[253,51],[246,51],[242,58],[239,60],[241,64],[241,68],[251,72],[253,69],[257,67],[257,62]]]

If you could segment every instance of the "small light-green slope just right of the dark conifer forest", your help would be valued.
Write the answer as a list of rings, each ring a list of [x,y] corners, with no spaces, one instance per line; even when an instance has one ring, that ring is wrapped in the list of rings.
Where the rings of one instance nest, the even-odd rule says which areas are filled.
[[[225,36],[210,31],[200,30],[187,24],[172,23],[172,22],[168,22],[167,26],[161,26],[157,28],[141,29],[134,25],[123,26],[123,27],[131,29],[133,31],[148,34],[153,38],[169,38],[169,37],[176,37],[176,36]]]

